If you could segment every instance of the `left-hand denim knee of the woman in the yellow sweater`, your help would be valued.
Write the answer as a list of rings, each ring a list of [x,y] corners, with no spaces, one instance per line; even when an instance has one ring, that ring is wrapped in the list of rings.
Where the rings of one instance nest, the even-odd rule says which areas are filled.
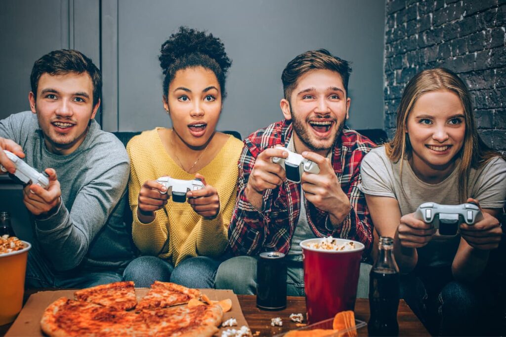
[[[168,282],[174,267],[156,256],[141,256],[126,266],[124,281],[134,281],[136,287],[149,288],[154,281]]]

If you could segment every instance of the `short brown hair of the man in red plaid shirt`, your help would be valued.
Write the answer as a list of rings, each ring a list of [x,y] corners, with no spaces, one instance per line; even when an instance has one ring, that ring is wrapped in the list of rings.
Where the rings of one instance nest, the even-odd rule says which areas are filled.
[[[290,99],[291,92],[297,86],[299,78],[311,70],[332,70],[341,75],[346,94],[348,94],[348,81],[350,80],[350,63],[330,54],[326,49],[308,51],[303,53],[286,65],[281,74],[285,100]]]

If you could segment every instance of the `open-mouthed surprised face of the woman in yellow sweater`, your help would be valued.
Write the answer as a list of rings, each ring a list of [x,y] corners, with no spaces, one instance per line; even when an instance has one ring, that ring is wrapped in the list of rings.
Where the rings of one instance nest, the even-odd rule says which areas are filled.
[[[178,70],[163,106],[171,115],[174,131],[187,146],[205,146],[216,130],[222,109],[215,73],[203,67]]]

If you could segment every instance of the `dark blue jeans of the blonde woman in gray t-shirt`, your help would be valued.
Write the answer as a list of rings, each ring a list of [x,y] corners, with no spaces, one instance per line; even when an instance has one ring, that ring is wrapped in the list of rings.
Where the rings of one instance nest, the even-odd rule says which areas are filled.
[[[450,266],[417,267],[401,275],[401,298],[433,335],[495,335],[498,304],[489,285],[457,282]]]

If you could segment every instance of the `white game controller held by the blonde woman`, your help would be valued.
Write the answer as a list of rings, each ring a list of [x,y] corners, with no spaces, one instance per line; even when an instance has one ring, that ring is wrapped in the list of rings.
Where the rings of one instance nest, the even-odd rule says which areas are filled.
[[[458,226],[465,222],[472,225],[483,219],[480,208],[475,204],[439,205],[424,203],[418,206],[414,217],[426,223],[432,223],[438,231],[436,234],[454,236]]]

